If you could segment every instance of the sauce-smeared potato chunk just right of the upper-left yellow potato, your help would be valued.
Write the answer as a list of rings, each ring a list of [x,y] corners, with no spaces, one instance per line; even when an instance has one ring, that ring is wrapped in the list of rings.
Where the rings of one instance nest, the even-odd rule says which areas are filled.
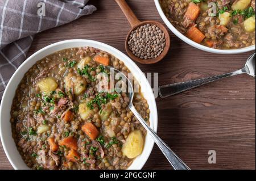
[[[76,75],[68,74],[64,78],[65,89],[73,89],[75,95],[80,95],[86,90],[87,82],[81,76],[76,77]]]

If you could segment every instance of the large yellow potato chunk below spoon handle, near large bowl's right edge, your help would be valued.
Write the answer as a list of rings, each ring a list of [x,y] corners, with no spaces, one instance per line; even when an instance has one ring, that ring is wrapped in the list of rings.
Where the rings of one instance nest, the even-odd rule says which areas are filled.
[[[140,130],[135,130],[129,134],[125,141],[125,144],[123,144],[123,155],[128,158],[135,158],[142,153],[143,146],[143,134]]]

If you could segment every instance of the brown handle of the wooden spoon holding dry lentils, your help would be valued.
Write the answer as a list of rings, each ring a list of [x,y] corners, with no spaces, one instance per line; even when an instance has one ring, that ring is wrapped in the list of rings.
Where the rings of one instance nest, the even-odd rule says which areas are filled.
[[[127,5],[125,0],[115,0],[115,2],[118,3],[119,7],[123,11],[123,14],[125,14],[127,20],[129,21],[131,27],[134,27],[137,24],[141,23],[135,16],[133,11],[130,9],[130,7]]]

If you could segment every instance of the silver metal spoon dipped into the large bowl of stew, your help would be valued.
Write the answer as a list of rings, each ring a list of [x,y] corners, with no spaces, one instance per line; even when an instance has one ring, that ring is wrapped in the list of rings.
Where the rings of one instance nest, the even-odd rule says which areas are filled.
[[[109,69],[114,69],[112,67],[109,67]],[[142,118],[141,115],[137,112],[135,107],[133,106],[133,97],[134,97],[134,90],[133,90],[133,85],[131,84],[130,80],[126,77],[125,74],[123,74],[121,71],[114,69],[116,73],[121,73],[122,77],[126,79],[127,82],[127,87],[128,87],[128,96],[129,96],[129,105],[128,107],[130,108],[131,112],[134,113],[135,117],[141,122],[143,127],[146,129],[148,133],[150,133],[151,137],[154,139],[156,145],[160,148],[160,150],[163,152],[163,154],[166,156],[168,162],[170,162],[171,166],[175,170],[190,170],[189,167],[172,151],[165,142],[148,126],[146,121]]]

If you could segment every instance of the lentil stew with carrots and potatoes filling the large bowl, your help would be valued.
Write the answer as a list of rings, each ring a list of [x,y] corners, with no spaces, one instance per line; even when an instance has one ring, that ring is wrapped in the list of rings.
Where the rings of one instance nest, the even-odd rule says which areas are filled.
[[[28,167],[127,169],[142,153],[147,132],[127,107],[127,94],[97,89],[100,73],[109,74],[106,66],[130,73],[121,60],[92,47],[60,50],[27,71],[10,121]],[[140,91],[134,95],[149,124],[147,100]]]

